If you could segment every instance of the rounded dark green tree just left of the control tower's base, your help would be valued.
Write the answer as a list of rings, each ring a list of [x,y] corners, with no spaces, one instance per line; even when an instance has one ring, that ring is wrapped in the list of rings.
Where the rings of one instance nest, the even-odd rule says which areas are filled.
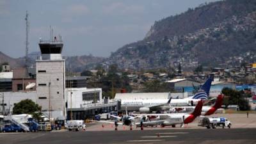
[[[13,108],[13,114],[31,114],[41,111],[41,107],[38,104],[35,104],[31,99],[21,100],[17,104],[15,104]]]

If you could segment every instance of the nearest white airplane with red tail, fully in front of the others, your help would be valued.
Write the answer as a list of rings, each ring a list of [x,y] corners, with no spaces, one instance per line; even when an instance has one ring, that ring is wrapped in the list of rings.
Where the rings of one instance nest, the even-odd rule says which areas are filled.
[[[198,101],[194,111],[190,114],[188,113],[168,113],[168,114],[146,114],[140,115],[141,122],[136,123],[137,126],[141,127],[143,130],[143,125],[172,125],[175,127],[177,124],[189,124],[195,120],[197,116],[201,115],[203,107],[203,100]],[[154,118],[155,117],[155,118]]]

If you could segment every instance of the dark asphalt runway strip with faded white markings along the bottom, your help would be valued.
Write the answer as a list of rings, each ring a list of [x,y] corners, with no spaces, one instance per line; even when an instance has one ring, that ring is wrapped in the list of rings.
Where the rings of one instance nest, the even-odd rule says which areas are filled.
[[[256,129],[154,129],[0,134],[0,143],[256,143]]]

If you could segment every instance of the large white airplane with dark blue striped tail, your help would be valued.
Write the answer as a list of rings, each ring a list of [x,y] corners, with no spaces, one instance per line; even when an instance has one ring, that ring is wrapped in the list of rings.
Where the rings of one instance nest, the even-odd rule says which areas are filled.
[[[172,99],[170,106],[194,106],[199,100],[207,100],[209,97],[209,91],[211,88],[213,77],[209,77],[207,81],[201,86],[198,92],[188,98],[184,99]],[[121,110],[127,108],[129,111],[140,111],[140,113],[150,113],[150,111],[161,109],[166,105],[166,99],[156,100],[122,100]]]

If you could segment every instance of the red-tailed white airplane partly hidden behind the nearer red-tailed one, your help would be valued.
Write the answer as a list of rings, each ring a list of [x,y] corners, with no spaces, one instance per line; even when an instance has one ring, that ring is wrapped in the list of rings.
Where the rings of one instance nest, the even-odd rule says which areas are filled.
[[[213,106],[203,106],[202,115],[212,115],[221,108],[223,102],[223,95],[218,95],[216,102]],[[170,107],[170,113],[189,113],[195,109],[195,106],[181,106],[181,107]]]

